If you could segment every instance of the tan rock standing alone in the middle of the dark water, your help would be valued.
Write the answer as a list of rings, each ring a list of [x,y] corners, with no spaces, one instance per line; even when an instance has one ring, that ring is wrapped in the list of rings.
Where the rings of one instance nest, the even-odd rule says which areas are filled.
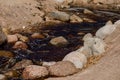
[[[69,42],[62,36],[50,40],[50,44],[54,46],[66,46]]]

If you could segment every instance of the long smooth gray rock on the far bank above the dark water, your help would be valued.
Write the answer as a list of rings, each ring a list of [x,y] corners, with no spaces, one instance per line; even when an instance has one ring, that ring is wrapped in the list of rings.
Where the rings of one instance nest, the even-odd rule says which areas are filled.
[[[60,12],[60,11],[50,12],[50,13],[48,13],[47,16],[50,17],[51,19],[60,20],[60,21],[69,21],[70,20],[69,14],[67,14],[65,12]]]

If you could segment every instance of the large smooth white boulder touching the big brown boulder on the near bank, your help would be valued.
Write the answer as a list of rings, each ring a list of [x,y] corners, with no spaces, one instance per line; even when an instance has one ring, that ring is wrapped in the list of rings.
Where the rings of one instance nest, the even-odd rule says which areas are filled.
[[[70,61],[76,66],[76,68],[82,69],[87,63],[87,57],[78,51],[73,51],[66,55],[63,61]]]

